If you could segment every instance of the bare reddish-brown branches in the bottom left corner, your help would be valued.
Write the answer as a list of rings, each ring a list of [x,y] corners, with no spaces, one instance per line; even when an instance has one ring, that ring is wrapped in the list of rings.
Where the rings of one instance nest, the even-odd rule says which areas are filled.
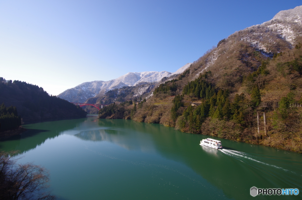
[[[0,199],[40,200],[55,199],[49,187],[48,171],[32,163],[16,164],[16,152],[0,151]]]

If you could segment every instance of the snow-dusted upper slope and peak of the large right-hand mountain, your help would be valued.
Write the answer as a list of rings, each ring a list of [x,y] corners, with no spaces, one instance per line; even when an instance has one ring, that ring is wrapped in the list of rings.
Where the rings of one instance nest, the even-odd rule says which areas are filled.
[[[269,21],[236,31],[221,40],[216,48],[209,50],[192,64],[194,69],[198,69],[195,71],[193,79],[208,70],[217,72],[214,76],[223,79],[224,69],[230,66],[235,69],[237,66],[249,67],[252,66],[252,63],[255,64],[257,59],[242,49],[240,45],[252,47],[255,52],[259,52],[265,57],[272,57],[274,53],[286,52],[288,49],[294,48],[300,37],[302,37],[302,5],[280,11]],[[240,61],[230,62],[234,56],[237,56],[237,59],[240,57]],[[260,64],[258,63],[258,66]]]

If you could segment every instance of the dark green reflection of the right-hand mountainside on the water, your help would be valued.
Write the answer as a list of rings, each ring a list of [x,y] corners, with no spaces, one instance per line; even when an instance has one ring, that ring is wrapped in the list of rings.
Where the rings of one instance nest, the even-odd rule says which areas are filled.
[[[83,140],[112,142],[128,150],[156,152],[167,159],[185,163],[211,184],[223,189],[226,196],[230,198],[251,198],[249,189],[255,185],[259,188],[297,188],[297,185],[302,183],[301,180],[294,177],[296,176],[294,173],[283,170],[290,167],[299,172],[300,176],[302,163],[297,162],[297,157],[293,158],[297,167],[284,167],[284,159],[280,157],[280,153],[268,147],[252,147],[249,144],[220,139],[224,147],[239,148],[242,151],[256,149],[262,153],[267,151],[267,155],[270,155],[272,159],[266,160],[263,162],[266,163],[265,165],[259,166],[262,163],[257,162],[257,156],[255,159],[244,158],[243,160],[230,153],[226,154],[199,145],[200,140],[207,136],[186,134],[159,124],[126,120],[100,120],[98,124],[106,129],[82,131],[75,136]],[[244,156],[247,157],[248,155],[245,154]],[[299,189],[301,189],[300,186]],[[266,198],[275,197],[268,196]],[[292,196],[290,198],[297,197]]]

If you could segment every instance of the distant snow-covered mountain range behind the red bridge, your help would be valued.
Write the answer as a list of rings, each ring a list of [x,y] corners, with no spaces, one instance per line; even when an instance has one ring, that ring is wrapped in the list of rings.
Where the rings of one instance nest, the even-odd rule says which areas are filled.
[[[190,64],[191,63],[186,64],[185,66],[178,69],[175,73],[170,73],[166,71],[129,72],[123,76],[118,77],[117,79],[112,79],[109,81],[84,82],[74,88],[65,90],[57,96],[69,102],[83,103],[88,98],[95,97],[100,92],[108,91],[108,89],[121,88],[124,86],[135,86],[144,82],[159,82],[163,77],[168,77],[171,74],[173,75],[182,73],[183,71],[185,71],[185,69],[190,66]]]

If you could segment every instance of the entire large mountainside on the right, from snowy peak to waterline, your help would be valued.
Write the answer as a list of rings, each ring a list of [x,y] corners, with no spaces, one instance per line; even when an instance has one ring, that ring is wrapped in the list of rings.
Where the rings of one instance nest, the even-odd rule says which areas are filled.
[[[100,118],[160,123],[302,153],[300,10],[236,31],[181,75],[163,79],[147,101],[114,104]]]

